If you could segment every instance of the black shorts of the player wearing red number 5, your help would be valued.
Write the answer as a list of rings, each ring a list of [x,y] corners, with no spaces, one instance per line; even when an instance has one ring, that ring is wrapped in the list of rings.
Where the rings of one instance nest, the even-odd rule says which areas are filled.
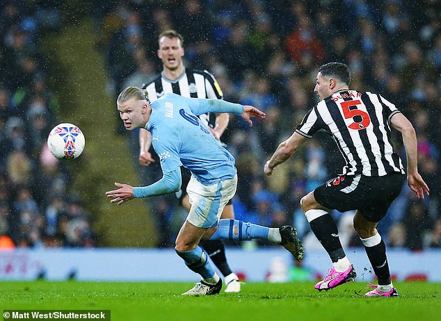
[[[380,222],[387,208],[401,192],[404,175],[337,176],[314,190],[314,198],[322,206],[339,212],[360,210],[371,222]]]

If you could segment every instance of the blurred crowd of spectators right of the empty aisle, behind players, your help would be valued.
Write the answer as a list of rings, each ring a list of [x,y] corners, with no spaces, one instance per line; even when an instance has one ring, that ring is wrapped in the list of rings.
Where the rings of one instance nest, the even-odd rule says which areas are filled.
[[[335,143],[317,135],[274,176],[264,176],[262,168],[316,104],[318,67],[348,64],[351,88],[380,92],[417,130],[419,167],[431,197],[415,199],[405,184],[378,229],[390,247],[423,249],[441,241],[439,8],[436,0],[113,1],[97,15],[97,26],[113,97],[161,72],[157,36],[173,28],[184,36],[187,66],[214,74],[225,100],[266,112],[267,119],[252,129],[238,118],[230,120],[222,138],[239,172],[236,217],[273,227],[294,224],[309,248],[319,245],[299,200],[342,169]],[[396,151],[405,159],[401,138],[394,135]],[[160,178],[140,170],[145,184]],[[151,204],[164,236],[159,245],[173,245],[175,221],[186,214],[173,196]],[[333,214],[344,245],[360,246],[354,213]]]

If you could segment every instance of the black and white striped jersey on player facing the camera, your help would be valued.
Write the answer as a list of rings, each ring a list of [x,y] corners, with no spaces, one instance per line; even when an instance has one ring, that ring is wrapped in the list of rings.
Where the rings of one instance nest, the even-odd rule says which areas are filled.
[[[169,92],[184,97],[223,99],[223,93],[218,82],[207,70],[186,69],[184,74],[175,81],[170,81],[161,72],[156,79],[144,84],[143,89],[147,89],[151,103]],[[202,114],[199,118],[207,126],[214,128],[216,124],[215,114]]]

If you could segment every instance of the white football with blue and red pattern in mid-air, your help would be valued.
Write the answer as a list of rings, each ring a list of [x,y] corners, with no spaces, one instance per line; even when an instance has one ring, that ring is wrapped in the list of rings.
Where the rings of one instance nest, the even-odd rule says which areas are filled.
[[[58,124],[47,138],[47,146],[52,155],[59,159],[73,159],[81,155],[84,149],[83,132],[74,124]]]

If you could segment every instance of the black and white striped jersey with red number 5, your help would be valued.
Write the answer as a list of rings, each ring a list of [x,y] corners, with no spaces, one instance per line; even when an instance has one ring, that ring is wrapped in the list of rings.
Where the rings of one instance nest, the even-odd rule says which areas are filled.
[[[342,174],[404,174],[390,140],[390,117],[396,113],[380,94],[342,90],[312,108],[296,132],[307,138],[320,130],[330,133],[346,161]]]

